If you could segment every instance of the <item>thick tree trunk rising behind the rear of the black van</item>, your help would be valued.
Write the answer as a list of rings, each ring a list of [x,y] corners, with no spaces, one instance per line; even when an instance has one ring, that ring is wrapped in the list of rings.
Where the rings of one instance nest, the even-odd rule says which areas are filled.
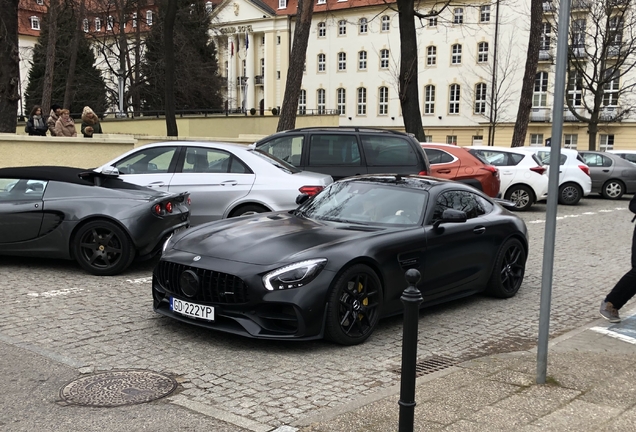
[[[420,111],[417,81],[417,35],[413,0],[398,0],[400,24],[400,106],[404,118],[404,129],[424,142],[424,128]]]

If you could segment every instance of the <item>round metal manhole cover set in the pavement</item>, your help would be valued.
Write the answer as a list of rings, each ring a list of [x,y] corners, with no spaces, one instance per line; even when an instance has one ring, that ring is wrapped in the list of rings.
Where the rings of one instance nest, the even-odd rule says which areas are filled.
[[[74,405],[114,407],[150,402],[177,388],[169,376],[144,370],[101,372],[71,381],[60,397]]]

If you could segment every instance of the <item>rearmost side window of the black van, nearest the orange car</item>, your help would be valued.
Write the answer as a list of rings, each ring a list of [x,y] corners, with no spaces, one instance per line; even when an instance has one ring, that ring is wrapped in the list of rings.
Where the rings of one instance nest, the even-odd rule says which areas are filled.
[[[418,159],[410,142],[391,136],[362,135],[362,148],[368,166],[417,166]]]

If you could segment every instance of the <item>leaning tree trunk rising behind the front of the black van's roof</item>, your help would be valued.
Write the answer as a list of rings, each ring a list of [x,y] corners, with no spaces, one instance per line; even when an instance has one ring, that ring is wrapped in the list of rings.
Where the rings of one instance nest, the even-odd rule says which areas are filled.
[[[285,96],[278,119],[277,132],[296,127],[296,112],[298,110],[298,94],[303,82],[303,69],[307,56],[307,44],[309,31],[311,30],[311,17],[314,13],[312,0],[298,0],[298,13],[296,15],[296,27],[294,28],[294,42],[289,58],[287,81],[285,82]]]

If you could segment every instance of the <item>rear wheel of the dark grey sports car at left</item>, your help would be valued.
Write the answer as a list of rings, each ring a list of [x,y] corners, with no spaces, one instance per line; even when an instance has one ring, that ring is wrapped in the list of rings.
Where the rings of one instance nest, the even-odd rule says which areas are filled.
[[[128,235],[112,222],[89,222],[73,241],[75,260],[84,270],[97,276],[112,276],[124,271],[135,253]]]

